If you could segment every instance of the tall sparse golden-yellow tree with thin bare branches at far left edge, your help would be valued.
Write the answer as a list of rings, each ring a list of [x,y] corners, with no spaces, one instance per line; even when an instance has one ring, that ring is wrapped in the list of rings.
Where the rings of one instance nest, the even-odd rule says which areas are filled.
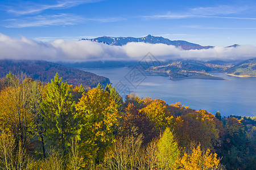
[[[31,149],[30,142],[36,135],[35,110],[40,103],[35,100],[36,97],[40,98],[36,90],[39,90],[37,82],[20,73],[11,78],[9,87],[0,94],[0,128],[14,138],[15,149],[12,154],[19,156],[20,163],[16,164],[18,167],[25,166],[26,150]]]

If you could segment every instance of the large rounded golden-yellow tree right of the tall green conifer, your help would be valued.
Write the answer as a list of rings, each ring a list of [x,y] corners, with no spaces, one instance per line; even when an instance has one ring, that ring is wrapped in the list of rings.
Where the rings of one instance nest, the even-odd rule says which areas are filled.
[[[118,112],[112,96],[102,88],[83,94],[76,110],[81,118],[81,148],[87,159],[102,159],[105,148],[115,142]]]

